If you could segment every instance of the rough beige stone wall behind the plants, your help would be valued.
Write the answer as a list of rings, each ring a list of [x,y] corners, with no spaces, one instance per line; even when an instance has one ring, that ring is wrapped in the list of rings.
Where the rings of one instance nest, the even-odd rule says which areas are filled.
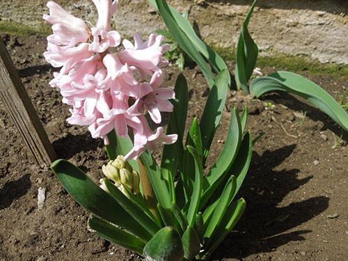
[[[93,22],[90,0],[56,0],[72,13]],[[180,11],[189,10],[203,39],[215,47],[233,49],[239,28],[251,1],[168,1]],[[1,0],[0,19],[40,27],[47,13],[43,0]],[[260,46],[261,55],[298,55],[322,63],[348,64],[348,1],[342,0],[260,0],[249,31]],[[120,0],[115,15],[116,29],[125,37],[143,35],[164,28],[146,0]]]

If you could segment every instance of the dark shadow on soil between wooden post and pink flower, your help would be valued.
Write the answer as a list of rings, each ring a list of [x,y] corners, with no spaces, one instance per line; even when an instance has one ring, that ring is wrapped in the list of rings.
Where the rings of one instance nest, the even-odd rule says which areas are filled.
[[[89,132],[70,134],[53,142],[54,150],[60,159],[70,159],[79,152],[89,152],[102,148],[102,139],[93,139]],[[88,157],[88,153],[86,153]]]

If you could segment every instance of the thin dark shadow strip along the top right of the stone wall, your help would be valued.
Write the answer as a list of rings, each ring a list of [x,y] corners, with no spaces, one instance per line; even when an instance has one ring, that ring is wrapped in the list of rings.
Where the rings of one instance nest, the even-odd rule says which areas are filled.
[[[209,1],[209,0],[208,0]],[[215,3],[230,3],[235,5],[251,5],[253,0],[210,0],[209,2]],[[258,0],[256,6],[260,8],[276,8],[276,9],[308,9],[308,10],[321,10],[329,13],[345,13],[348,9],[348,3],[346,0],[331,0],[331,1],[318,1],[318,0]]]

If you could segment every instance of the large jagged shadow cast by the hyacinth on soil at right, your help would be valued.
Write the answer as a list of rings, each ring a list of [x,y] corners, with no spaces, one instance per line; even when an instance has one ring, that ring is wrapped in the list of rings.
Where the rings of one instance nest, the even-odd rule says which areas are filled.
[[[299,189],[313,176],[297,178],[299,170],[274,171],[274,168],[289,157],[296,145],[288,145],[262,155],[254,153],[251,171],[242,191],[246,199],[246,212],[226,240],[216,249],[214,258],[245,258],[254,253],[270,252],[292,241],[305,240],[311,230],[287,232],[329,206],[329,198],[319,196],[301,202],[278,207],[288,193]]]

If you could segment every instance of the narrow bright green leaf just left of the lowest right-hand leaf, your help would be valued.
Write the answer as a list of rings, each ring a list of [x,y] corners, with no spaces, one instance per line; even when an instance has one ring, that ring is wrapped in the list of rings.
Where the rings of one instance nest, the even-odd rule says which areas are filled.
[[[219,228],[220,223],[223,219],[223,216],[225,215],[226,209],[228,208],[228,205],[230,205],[230,201],[232,200],[232,196],[235,193],[236,190],[236,178],[235,176],[231,176],[228,179],[228,182],[226,183],[225,188],[223,189],[223,192],[221,193],[221,196],[219,198],[218,203],[216,204],[216,207],[214,209],[214,212],[212,214],[212,218],[209,220],[209,223],[207,223],[205,230],[204,237],[206,239],[209,239],[214,234],[214,231]]]

